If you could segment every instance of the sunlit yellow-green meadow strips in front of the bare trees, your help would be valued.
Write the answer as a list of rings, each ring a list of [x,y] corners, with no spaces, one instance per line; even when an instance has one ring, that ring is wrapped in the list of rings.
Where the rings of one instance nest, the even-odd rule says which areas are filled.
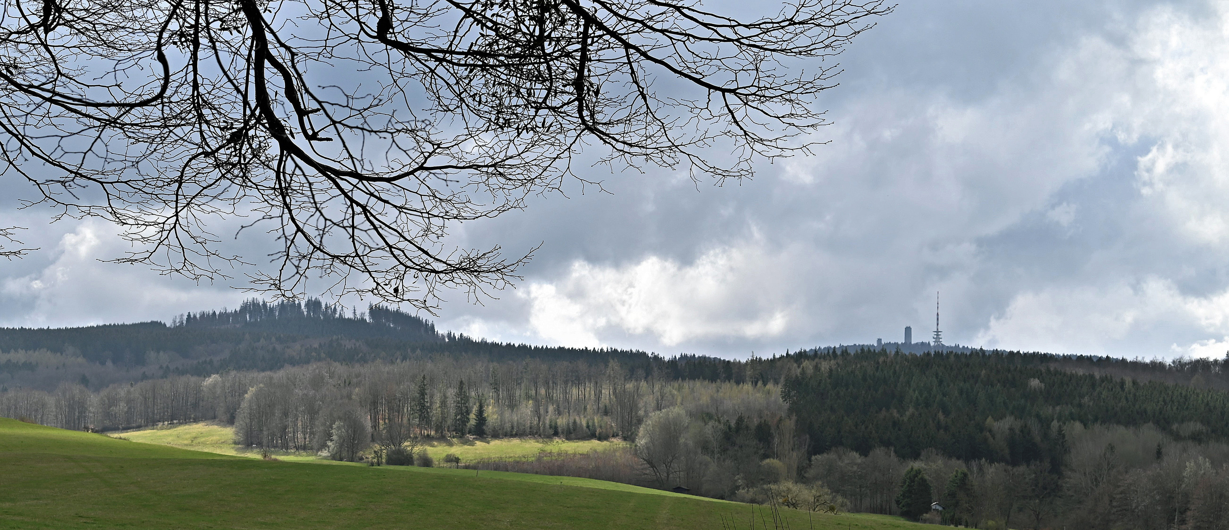
[[[235,430],[227,425],[208,422],[170,425],[160,429],[130,430],[114,433],[133,441],[171,445],[181,449],[218,453],[222,455],[259,456],[259,451],[237,448],[232,443]],[[428,444],[426,453],[442,464],[444,455],[455,454],[461,461],[477,459],[520,459],[533,457],[540,453],[589,453],[618,446],[622,441],[597,440],[541,440],[536,438],[481,439],[481,440],[434,440]],[[283,460],[311,460],[311,454],[277,453]]]

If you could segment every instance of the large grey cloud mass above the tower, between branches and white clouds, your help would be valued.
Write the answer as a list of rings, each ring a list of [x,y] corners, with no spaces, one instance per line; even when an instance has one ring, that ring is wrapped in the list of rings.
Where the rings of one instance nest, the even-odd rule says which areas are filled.
[[[986,330],[1034,291],[1101,285],[1109,293],[1149,278],[1201,284],[1204,294],[1224,289],[1213,279],[1219,267],[1208,264],[1214,258],[1175,241],[1156,205],[1141,197],[1136,162],[1148,139],[1120,141],[1115,135],[1134,125],[1099,122],[1121,118],[1104,116],[1121,111],[1106,98],[1121,93],[1115,84],[1132,74],[1121,71],[1129,65],[1072,57],[1100,52],[1083,44],[1089,38],[1122,45],[1149,9],[1082,5],[1054,23],[1053,11],[1037,5],[902,6],[843,57],[849,70],[830,101],[832,144],[814,159],[763,166],[736,189],[693,192],[660,175],[619,176],[613,197],[543,200],[522,214],[516,234],[492,224],[468,236],[551,234],[530,283],[558,285],[578,259],[608,271],[649,257],[689,267],[705,251],[744,248],[757,232],[761,251],[796,261],[789,278],[745,279],[784,293],[775,300],[791,314],[783,332],[662,344],[660,334],[595,325],[607,327],[597,333],[607,343],[707,353],[892,338],[905,325],[929,325],[935,289],[945,291],[949,341],[966,343],[998,341]],[[1207,7],[1171,10],[1191,16]],[[1063,226],[1046,216],[1059,205],[1073,212]],[[585,304],[585,295],[569,300]],[[601,299],[591,311],[611,303]],[[526,310],[524,299],[517,310]],[[1190,320],[1166,318],[1174,320],[1159,315],[1164,325],[1136,322],[1115,337],[1088,327],[1094,337],[1072,342],[1072,350],[1171,355],[1170,344],[1208,336]],[[994,346],[1039,343],[1021,342]]]

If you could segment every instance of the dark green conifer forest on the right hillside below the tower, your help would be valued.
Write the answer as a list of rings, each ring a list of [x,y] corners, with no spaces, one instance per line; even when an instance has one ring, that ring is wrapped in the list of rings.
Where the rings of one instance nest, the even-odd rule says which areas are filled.
[[[782,397],[812,453],[893,448],[917,457],[933,448],[962,460],[1051,461],[1067,453],[1061,425],[1073,421],[1229,440],[1229,392],[1073,369],[1095,366],[1097,358],[865,349],[791,357],[795,371],[783,376]],[[1149,365],[1133,364],[1141,371]],[[1200,365],[1208,378],[1225,371],[1225,362]],[[1166,366],[1153,364],[1175,371]]]

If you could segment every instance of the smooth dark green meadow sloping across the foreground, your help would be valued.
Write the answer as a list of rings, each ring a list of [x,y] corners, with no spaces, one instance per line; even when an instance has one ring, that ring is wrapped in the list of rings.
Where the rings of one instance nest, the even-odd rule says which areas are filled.
[[[0,529],[723,529],[748,526],[753,510],[764,513],[601,481],[264,461],[0,418]],[[783,516],[790,529],[925,528]]]

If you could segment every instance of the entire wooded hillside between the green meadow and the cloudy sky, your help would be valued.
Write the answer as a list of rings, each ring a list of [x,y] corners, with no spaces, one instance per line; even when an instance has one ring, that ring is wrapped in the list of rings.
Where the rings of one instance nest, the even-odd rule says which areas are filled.
[[[215,421],[241,445],[393,465],[429,465],[415,448],[431,438],[616,439],[627,444],[451,465],[978,528],[1229,520],[1229,359],[666,359],[489,343],[316,301],[0,330],[0,416],[71,429]]]

